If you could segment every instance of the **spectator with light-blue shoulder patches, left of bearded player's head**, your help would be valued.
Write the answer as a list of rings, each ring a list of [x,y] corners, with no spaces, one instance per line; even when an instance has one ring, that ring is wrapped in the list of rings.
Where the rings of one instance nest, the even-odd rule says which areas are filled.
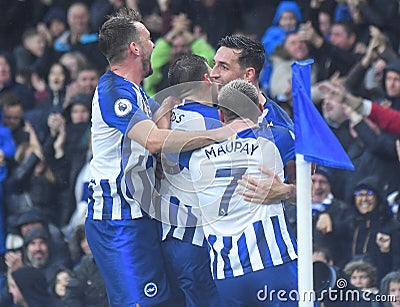
[[[107,61],[97,45],[97,34],[91,33],[88,7],[82,2],[72,4],[68,8],[67,22],[69,30],[55,40],[54,50],[59,56],[69,51],[80,51],[97,69],[104,70]]]

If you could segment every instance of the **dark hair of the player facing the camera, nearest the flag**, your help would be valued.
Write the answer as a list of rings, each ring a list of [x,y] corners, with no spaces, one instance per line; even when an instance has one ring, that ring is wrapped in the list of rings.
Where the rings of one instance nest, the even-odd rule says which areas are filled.
[[[243,35],[228,35],[218,42],[218,47],[240,50],[238,63],[240,68],[253,67],[257,79],[265,62],[265,49],[261,42]]]

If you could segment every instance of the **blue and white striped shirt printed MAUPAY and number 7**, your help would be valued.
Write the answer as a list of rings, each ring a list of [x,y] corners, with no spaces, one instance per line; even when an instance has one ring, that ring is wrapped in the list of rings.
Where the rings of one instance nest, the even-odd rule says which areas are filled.
[[[260,166],[284,180],[284,164],[294,155],[288,129],[264,125],[192,153],[188,166],[198,193],[214,279],[240,276],[297,258],[282,203],[249,203],[236,193],[242,175],[266,176],[259,171]]]

